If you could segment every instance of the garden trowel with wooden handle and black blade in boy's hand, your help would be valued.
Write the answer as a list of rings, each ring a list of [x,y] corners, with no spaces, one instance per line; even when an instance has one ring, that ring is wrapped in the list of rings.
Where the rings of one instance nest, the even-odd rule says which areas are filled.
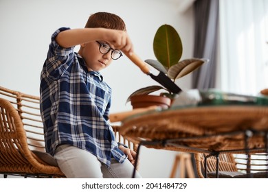
[[[139,67],[145,74],[150,75],[153,80],[159,82],[162,86],[168,89],[168,91],[172,93],[180,93],[181,88],[175,84],[175,82],[172,82],[170,78],[165,75],[163,72],[159,71],[158,75],[153,75],[153,73],[150,71],[150,68],[146,62],[142,61],[135,53],[129,55],[125,53],[125,55],[132,61],[134,64]]]

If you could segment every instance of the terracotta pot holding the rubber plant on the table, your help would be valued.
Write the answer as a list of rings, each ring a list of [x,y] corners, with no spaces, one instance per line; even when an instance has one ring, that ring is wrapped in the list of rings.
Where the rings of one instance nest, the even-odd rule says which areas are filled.
[[[169,108],[170,103],[170,98],[157,95],[136,95],[131,97],[131,105],[133,108],[146,108],[149,106]]]

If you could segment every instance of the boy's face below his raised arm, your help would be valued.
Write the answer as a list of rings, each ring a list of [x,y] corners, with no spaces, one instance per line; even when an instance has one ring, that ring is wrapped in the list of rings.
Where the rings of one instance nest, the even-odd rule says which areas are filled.
[[[85,43],[80,47],[79,54],[84,58],[89,71],[100,71],[111,64],[111,51],[102,54],[99,47],[100,45],[96,41]]]

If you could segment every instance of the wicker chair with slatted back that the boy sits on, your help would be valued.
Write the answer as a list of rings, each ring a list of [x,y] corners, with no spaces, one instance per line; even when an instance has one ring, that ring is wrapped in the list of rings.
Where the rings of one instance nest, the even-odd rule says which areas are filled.
[[[56,160],[45,152],[39,97],[0,86],[0,174],[65,178]],[[118,142],[136,148],[113,127]]]

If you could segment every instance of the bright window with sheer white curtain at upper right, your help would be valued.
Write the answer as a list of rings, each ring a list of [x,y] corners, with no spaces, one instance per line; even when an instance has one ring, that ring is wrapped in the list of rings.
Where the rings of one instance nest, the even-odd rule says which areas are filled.
[[[268,0],[220,1],[221,89],[268,88]]]

